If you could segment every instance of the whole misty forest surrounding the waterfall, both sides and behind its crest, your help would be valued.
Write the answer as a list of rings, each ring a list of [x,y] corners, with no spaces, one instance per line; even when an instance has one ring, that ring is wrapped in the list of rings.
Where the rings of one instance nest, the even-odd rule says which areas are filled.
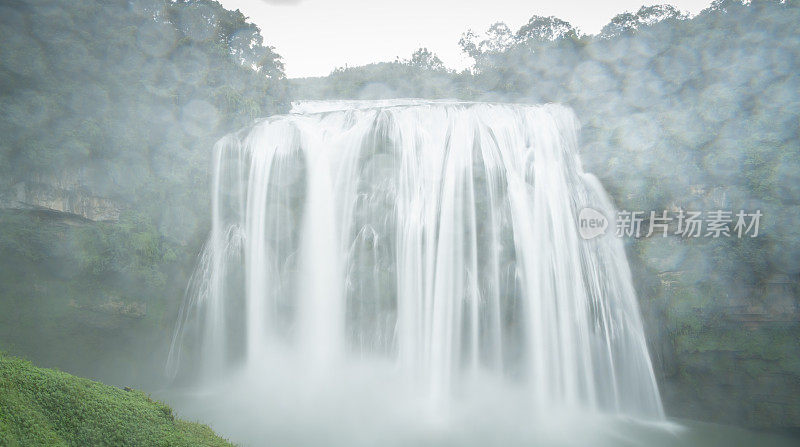
[[[616,209],[763,213],[757,238],[625,250],[666,413],[796,436],[798,23],[795,0],[643,6],[596,35],[534,15],[453,36],[465,70],[423,47],[287,79],[280,48],[213,0],[3,1],[0,351],[162,387],[212,148],[293,101],[560,103]]]

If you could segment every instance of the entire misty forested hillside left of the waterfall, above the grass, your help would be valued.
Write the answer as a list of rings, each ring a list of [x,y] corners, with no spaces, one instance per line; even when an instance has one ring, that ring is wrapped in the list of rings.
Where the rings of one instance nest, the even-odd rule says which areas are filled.
[[[288,108],[213,0],[0,3],[0,349],[152,383],[208,231],[211,148]]]

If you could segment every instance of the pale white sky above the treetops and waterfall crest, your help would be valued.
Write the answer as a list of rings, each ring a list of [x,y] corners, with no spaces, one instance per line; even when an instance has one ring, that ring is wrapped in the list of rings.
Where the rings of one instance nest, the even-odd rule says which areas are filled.
[[[264,42],[283,56],[290,78],[325,76],[336,67],[411,57],[419,47],[449,68],[468,65],[461,34],[495,22],[512,30],[536,14],[556,16],[595,34],[624,11],[669,3],[697,14],[710,0],[219,0],[261,28]]]

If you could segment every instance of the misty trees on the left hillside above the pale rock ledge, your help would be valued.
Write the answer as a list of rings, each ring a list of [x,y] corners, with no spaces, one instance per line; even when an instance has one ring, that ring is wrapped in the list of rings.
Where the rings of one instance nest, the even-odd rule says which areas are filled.
[[[89,165],[125,180],[98,185],[106,196],[174,181],[176,163],[129,170],[189,162],[186,151],[285,106],[278,56],[213,0],[12,0],[0,17],[6,176]]]

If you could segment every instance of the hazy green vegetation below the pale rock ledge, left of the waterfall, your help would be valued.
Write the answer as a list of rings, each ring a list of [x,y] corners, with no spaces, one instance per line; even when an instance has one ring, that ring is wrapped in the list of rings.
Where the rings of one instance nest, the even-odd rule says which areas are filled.
[[[0,228],[5,349],[114,383],[160,376],[194,263],[185,247],[127,217],[91,223],[0,211]]]

